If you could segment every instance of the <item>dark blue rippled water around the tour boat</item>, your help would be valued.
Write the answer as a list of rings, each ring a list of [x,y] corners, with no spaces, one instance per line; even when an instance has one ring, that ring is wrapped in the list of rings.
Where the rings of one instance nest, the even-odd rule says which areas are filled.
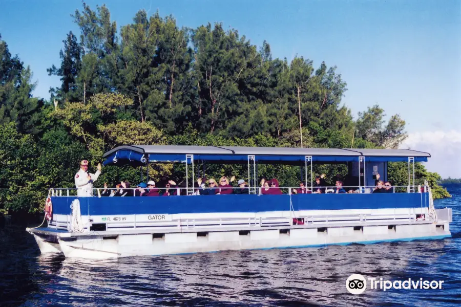
[[[134,306],[461,305],[461,186],[447,186],[444,240],[130,257],[40,255],[24,225],[0,229],[0,304]],[[441,290],[346,291],[353,273],[444,280]]]

